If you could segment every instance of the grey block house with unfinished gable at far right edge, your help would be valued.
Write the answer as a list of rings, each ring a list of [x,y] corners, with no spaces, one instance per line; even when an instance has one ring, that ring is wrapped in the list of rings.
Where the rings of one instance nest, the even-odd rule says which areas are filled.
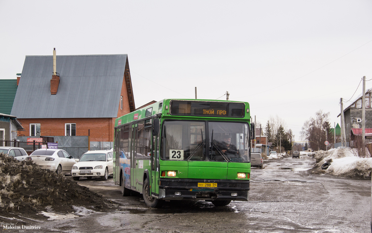
[[[352,137],[352,129],[362,129],[362,95],[360,95],[344,109],[345,117],[345,132],[346,132],[346,141],[350,142]],[[372,88],[366,90],[366,99],[365,99],[365,127],[366,129],[372,129]],[[339,114],[337,117],[341,116]]]

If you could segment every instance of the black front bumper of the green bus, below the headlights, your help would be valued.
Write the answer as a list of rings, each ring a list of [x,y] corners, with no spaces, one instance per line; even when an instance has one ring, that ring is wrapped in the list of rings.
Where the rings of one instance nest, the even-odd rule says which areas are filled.
[[[217,183],[217,187],[198,187],[198,183]],[[248,201],[249,185],[249,180],[160,178],[159,199]]]

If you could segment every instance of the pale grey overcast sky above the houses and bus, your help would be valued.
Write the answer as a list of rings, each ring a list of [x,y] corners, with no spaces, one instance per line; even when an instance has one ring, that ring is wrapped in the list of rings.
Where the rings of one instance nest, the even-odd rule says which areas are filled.
[[[53,48],[128,54],[137,107],[195,98],[195,87],[200,99],[228,91],[263,127],[278,115],[301,141],[305,120],[323,110],[340,123],[340,98],[353,100],[362,77],[372,79],[371,12],[369,0],[0,0],[0,79]]]

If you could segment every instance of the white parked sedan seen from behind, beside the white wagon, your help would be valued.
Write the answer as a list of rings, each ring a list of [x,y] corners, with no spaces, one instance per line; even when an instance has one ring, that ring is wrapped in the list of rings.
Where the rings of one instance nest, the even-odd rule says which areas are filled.
[[[40,168],[57,174],[70,173],[72,166],[76,164],[74,157],[61,149],[37,149],[26,160],[32,160]]]

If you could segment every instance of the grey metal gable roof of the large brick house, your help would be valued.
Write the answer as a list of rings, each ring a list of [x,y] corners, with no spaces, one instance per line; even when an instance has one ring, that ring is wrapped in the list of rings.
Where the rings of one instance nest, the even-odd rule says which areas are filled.
[[[26,56],[11,114],[25,118],[118,115],[126,54],[57,56],[60,84],[51,95],[53,56]]]

